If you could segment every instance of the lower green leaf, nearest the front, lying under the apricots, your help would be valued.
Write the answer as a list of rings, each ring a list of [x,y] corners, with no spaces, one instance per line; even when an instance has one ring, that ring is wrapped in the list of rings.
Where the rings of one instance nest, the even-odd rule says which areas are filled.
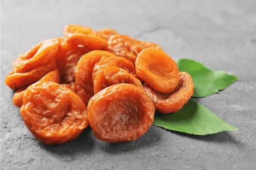
[[[238,130],[193,100],[188,100],[184,107],[175,113],[156,114],[153,125],[194,135]]]

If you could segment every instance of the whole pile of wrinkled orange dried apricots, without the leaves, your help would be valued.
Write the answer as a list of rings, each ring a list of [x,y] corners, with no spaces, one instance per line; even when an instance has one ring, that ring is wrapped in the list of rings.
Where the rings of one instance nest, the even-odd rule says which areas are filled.
[[[28,130],[46,144],[75,139],[91,127],[106,142],[133,141],[155,109],[176,112],[193,94],[189,74],[162,48],[105,28],[64,27],[13,62],[5,84]]]

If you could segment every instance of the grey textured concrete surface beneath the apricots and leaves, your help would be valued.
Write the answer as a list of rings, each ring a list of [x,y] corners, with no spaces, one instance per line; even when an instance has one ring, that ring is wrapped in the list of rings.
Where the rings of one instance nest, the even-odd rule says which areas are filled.
[[[66,24],[111,27],[153,41],[239,77],[197,99],[236,132],[191,136],[151,127],[140,139],[109,144],[90,130],[47,146],[28,132],[4,84],[13,60],[33,44],[62,36]],[[255,0],[1,0],[1,170],[255,170]]]

